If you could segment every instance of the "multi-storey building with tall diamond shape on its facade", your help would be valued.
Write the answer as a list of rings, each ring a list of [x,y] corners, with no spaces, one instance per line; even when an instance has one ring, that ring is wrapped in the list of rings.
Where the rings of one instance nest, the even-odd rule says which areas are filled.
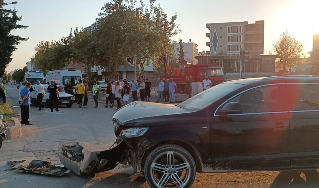
[[[240,50],[249,51],[249,54],[263,54],[264,21],[228,22],[206,24],[210,39],[206,45],[210,47],[210,55],[238,55]]]

